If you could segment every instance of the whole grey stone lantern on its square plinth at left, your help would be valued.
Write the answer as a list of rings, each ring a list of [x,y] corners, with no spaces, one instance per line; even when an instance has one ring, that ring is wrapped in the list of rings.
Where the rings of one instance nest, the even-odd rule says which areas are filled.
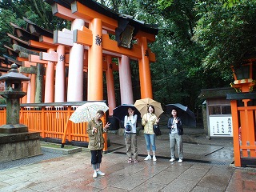
[[[22,82],[29,80],[18,73],[16,64],[0,77],[0,82],[5,82],[5,90],[0,95],[6,98],[6,125],[0,126],[0,162],[42,154],[40,133],[28,132],[28,127],[19,123],[19,99],[26,95],[22,91]]]

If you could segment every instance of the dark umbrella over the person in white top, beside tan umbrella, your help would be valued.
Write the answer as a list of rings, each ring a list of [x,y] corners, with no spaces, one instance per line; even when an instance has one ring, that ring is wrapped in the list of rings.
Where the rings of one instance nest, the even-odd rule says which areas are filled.
[[[134,114],[138,115],[138,118],[141,117],[140,112],[137,110],[137,108],[132,104],[122,104],[121,106],[117,106],[113,110],[113,117],[118,118],[119,121],[123,121],[125,116],[128,114],[128,108],[131,108],[134,110]]]

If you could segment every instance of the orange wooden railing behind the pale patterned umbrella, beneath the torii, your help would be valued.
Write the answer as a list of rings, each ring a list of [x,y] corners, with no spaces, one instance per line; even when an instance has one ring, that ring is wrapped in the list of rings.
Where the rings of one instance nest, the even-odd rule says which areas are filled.
[[[54,102],[21,104],[20,123],[28,126],[29,131],[40,132],[42,138],[57,138],[68,142],[89,142],[86,133],[87,123],[69,121],[74,110],[85,102]],[[105,116],[102,118],[106,123]],[[6,106],[0,105],[0,126],[6,124]],[[105,147],[107,150],[106,134]]]

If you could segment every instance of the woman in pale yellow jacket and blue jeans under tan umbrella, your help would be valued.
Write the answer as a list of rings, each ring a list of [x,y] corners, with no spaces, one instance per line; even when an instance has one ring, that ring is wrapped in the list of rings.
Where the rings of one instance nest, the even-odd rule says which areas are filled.
[[[152,146],[152,153],[153,153],[153,161],[157,161],[157,158],[155,157],[155,134],[153,130],[154,124],[157,124],[159,121],[159,118],[154,114],[154,106],[149,105],[147,108],[147,113],[143,115],[142,117],[142,126],[144,126],[144,137],[146,140],[146,151],[147,156],[144,159],[145,161],[151,159],[150,155],[150,146]]]

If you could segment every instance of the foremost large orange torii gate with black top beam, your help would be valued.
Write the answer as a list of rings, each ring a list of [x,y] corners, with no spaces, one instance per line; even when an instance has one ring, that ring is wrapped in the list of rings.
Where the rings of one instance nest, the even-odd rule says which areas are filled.
[[[141,84],[142,98],[152,98],[152,87],[150,78],[150,62],[155,61],[155,56],[151,53],[147,46],[148,42],[154,42],[155,35],[158,30],[146,26],[142,22],[135,21],[131,18],[124,18],[121,14],[117,14],[106,7],[94,1],[46,1],[52,6],[53,14],[59,18],[64,18],[72,22],[73,42],[74,46],[70,50],[70,60],[75,64],[72,65],[70,61],[69,78],[78,77],[79,57],[81,58],[81,50],[83,46],[88,49],[88,100],[102,100],[103,99],[103,85],[102,85],[102,57],[103,54],[108,54],[111,57],[119,58],[119,71],[126,68],[129,64],[129,59],[138,60],[139,76]],[[126,21],[128,26],[132,26],[136,30],[133,34],[137,44],[134,44],[131,49],[118,46],[118,42],[109,38],[109,34],[116,34],[118,23]],[[86,27],[88,26],[88,27]],[[62,37],[62,38],[59,38]],[[62,31],[54,32],[54,43],[62,44],[63,37],[70,38],[70,34],[63,34]],[[131,39],[130,39],[131,40]],[[73,55],[73,58],[72,58]],[[124,61],[124,63],[122,63]],[[80,62],[80,63],[79,63]],[[74,69],[73,69],[74,68]],[[120,76],[121,78],[127,78]],[[128,77],[130,78],[130,77]],[[125,82],[125,81],[122,81]],[[127,82],[127,81],[126,81]],[[78,91],[78,86],[75,88],[69,86],[70,89]],[[126,85],[120,85],[126,86]],[[70,93],[72,91],[69,91]],[[121,90],[122,92],[122,90]],[[79,91],[78,91],[79,93]],[[122,95],[122,93],[121,93]],[[129,100],[129,99],[128,99]],[[129,101],[133,102],[133,101]],[[126,102],[127,103],[127,102]]]

